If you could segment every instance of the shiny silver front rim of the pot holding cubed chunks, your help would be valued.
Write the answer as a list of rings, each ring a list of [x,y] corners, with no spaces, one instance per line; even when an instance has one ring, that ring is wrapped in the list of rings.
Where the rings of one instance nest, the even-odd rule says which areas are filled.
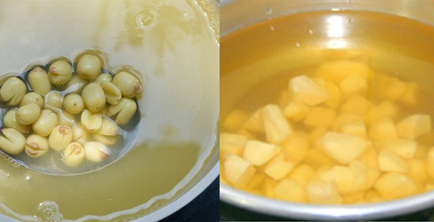
[[[256,212],[306,220],[359,220],[398,216],[434,206],[434,192],[373,204],[314,205],[271,199],[220,184],[220,200]]]

